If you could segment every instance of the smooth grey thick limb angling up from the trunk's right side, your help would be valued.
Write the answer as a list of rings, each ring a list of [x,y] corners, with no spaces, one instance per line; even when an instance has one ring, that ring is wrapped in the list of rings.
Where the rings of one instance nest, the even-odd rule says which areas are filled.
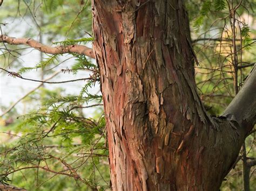
[[[245,128],[247,134],[251,131],[256,121],[256,67],[248,75],[244,86],[228,105],[222,116],[237,121],[240,126],[250,124],[250,129]]]

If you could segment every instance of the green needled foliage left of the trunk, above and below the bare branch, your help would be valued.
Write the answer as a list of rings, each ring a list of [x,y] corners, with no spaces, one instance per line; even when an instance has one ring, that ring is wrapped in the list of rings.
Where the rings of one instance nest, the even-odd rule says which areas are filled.
[[[65,0],[21,2],[22,9],[28,12],[24,14],[25,17],[30,13],[33,17],[42,14],[44,17],[39,17],[42,23],[49,23],[47,26],[41,26],[41,22],[38,22],[42,34],[47,34],[43,38],[48,42],[56,36],[65,37],[66,33],[69,33],[68,40],[53,44],[84,45],[94,40],[91,37],[84,38],[84,30],[91,29],[90,3]],[[90,26],[90,29],[87,26]],[[35,32],[30,31],[33,34]],[[82,82],[84,87],[80,93],[78,90],[78,93],[66,94],[62,88],[53,89],[55,87],[52,86],[50,90],[45,89],[48,86],[44,86],[23,100],[24,104],[28,105],[29,114],[19,116],[9,126],[1,126],[1,129],[6,128],[1,131],[11,131],[14,136],[10,136],[8,142],[0,145],[0,183],[8,184],[11,178],[12,184],[18,186],[29,177],[28,181],[24,180],[30,182],[26,184],[28,190],[109,188],[109,151],[106,146],[102,95],[92,93],[92,88],[98,86],[98,68],[84,55],[70,53],[65,56],[66,58],[61,55],[47,55],[32,67],[19,69],[19,73],[41,68],[45,73],[50,69],[53,72],[56,67],[62,67],[63,62],[70,60],[69,63],[65,63],[66,69],[62,68],[63,72],[72,70],[76,74],[80,70],[83,71],[83,75],[90,72],[91,80]],[[18,111],[15,112],[16,116],[17,113]],[[11,112],[9,116],[16,117],[12,116]],[[45,186],[53,180],[50,174],[55,182]],[[71,181],[72,178],[75,179],[75,183]]]

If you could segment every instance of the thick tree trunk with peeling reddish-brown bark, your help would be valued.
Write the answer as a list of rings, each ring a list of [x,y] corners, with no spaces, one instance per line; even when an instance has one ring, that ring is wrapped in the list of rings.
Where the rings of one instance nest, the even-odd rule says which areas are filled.
[[[93,0],[92,11],[112,189],[218,190],[255,110],[206,114],[183,1]]]

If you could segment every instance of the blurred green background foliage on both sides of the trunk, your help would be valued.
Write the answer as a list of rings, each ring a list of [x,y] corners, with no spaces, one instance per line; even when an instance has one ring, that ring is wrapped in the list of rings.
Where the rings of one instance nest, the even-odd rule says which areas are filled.
[[[186,8],[199,61],[195,66],[198,92],[208,112],[220,115],[256,60],[256,1],[193,0],[186,1]],[[23,36],[45,44],[90,46],[93,41],[90,1],[4,1],[0,19],[2,33],[14,32],[7,23],[20,20],[30,26]],[[77,94],[39,84],[24,96],[23,104],[32,107],[22,112],[2,106],[8,112],[0,118],[0,182],[28,190],[109,189],[105,120],[95,61],[78,54],[41,54],[41,61],[27,67],[19,60],[27,49],[1,45],[0,67],[20,75],[41,71],[41,79],[70,73],[74,78],[86,75],[89,80],[79,82],[84,86]],[[248,159],[256,157],[254,137],[252,133],[246,139]],[[221,189],[242,189],[241,163]],[[254,169],[251,167],[252,190],[256,189]]]

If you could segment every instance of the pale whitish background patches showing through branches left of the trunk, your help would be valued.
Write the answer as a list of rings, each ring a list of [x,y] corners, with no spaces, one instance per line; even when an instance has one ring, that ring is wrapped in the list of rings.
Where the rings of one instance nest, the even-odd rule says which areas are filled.
[[[3,19],[1,19],[3,20]],[[4,34],[8,34],[8,36],[11,37],[16,37],[16,38],[21,38],[24,37],[24,32],[25,29],[31,29],[33,30],[33,26],[30,26],[27,22],[24,22],[24,20],[18,20],[16,19],[15,22],[12,22],[11,20],[5,22],[10,23],[6,26],[2,26],[2,31]],[[36,39],[36,38],[35,38]],[[36,39],[37,40],[37,39]],[[63,39],[56,39],[55,41],[58,40],[63,40]],[[91,45],[88,45],[91,46]],[[21,62],[22,66],[24,67],[34,67],[38,61],[39,61],[39,56],[40,53],[37,50],[33,50],[32,48],[27,49],[22,56],[20,56],[19,61]],[[0,59],[2,60],[0,53]],[[62,56],[59,61],[65,60],[68,58],[68,54],[65,54]],[[47,56],[44,54],[44,58]],[[59,69],[65,69],[67,66],[71,68],[71,65],[74,62],[75,59],[70,59],[64,63],[62,63],[59,67],[57,67],[55,70]],[[8,66],[7,63],[5,67]],[[11,67],[11,68],[6,68],[7,70],[10,70],[11,72],[17,72],[18,69]],[[89,72],[85,71],[80,71],[78,72],[77,75],[73,75],[72,73],[60,73],[50,81],[67,81],[67,80],[73,80],[73,79],[79,79],[79,78],[85,78],[89,77]],[[29,79],[36,79],[36,80],[41,80],[41,71],[38,70],[32,70],[31,72],[27,72],[22,74],[23,77],[29,78]],[[46,75],[44,78],[49,77],[50,75]],[[14,78],[11,76],[8,76],[7,73],[3,72],[2,70],[0,71],[0,105],[3,105],[4,107],[9,107],[11,103],[16,102],[19,98],[24,96],[26,93],[28,93],[30,90],[34,89],[40,84],[40,82],[32,82],[32,81],[26,81],[22,80],[19,78]],[[65,89],[65,94],[76,94],[78,95],[80,90],[83,88],[85,82],[84,81],[77,81],[77,82],[70,82],[70,83],[64,83],[64,84],[45,84],[46,88],[49,89],[55,89],[57,87],[62,87]],[[96,85],[95,88],[92,88],[91,93],[97,93],[99,90],[99,86]],[[24,110],[24,104],[20,102],[17,104],[16,109],[18,111],[23,111]],[[3,111],[0,110],[0,115],[2,114]]]

